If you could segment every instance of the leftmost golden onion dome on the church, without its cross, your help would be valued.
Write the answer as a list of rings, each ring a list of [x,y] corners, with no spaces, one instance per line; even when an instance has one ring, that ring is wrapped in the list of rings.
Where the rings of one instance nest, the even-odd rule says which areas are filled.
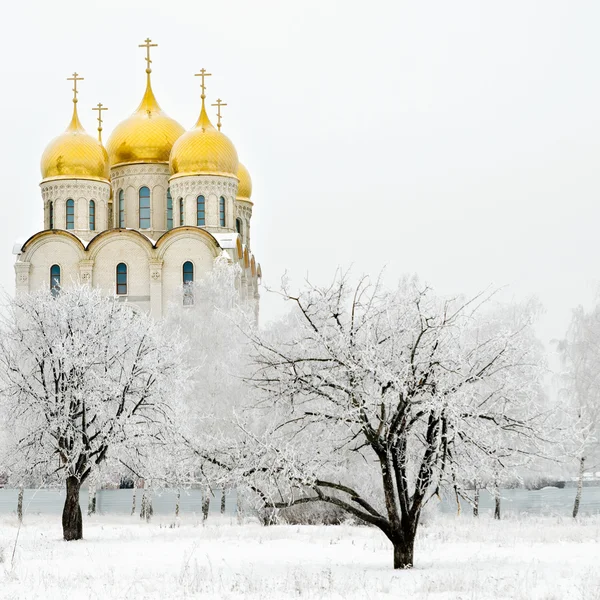
[[[66,131],[46,146],[41,160],[42,179],[96,179],[108,181],[108,155],[104,146],[87,134],[77,115]]]

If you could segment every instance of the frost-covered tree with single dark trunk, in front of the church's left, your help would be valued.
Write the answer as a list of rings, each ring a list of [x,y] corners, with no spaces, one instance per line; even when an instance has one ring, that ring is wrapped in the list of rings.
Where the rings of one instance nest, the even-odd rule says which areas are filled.
[[[63,479],[65,540],[83,535],[79,490],[98,465],[169,441],[181,353],[148,316],[86,286],[8,302],[0,410],[13,444],[4,462]]]

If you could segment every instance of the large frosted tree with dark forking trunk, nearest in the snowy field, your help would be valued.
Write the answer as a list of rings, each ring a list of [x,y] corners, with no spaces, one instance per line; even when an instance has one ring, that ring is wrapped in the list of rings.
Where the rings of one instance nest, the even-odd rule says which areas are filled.
[[[535,455],[539,345],[527,307],[444,299],[338,275],[282,292],[287,322],[253,337],[261,399],[240,422],[240,478],[267,506],[327,502],[379,527],[394,567],[413,565],[424,506],[509,457]]]

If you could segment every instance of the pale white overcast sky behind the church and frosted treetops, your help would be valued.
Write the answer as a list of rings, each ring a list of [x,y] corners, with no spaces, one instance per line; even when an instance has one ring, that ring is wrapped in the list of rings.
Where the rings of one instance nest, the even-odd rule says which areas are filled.
[[[265,282],[338,265],[418,273],[442,293],[539,296],[545,339],[598,280],[600,3],[11,1],[0,36],[0,284],[42,226],[39,159],[80,116],[105,139],[153,87],[185,127],[223,98],[249,168]],[[211,115],[212,116],[212,115]],[[263,295],[262,314],[279,310]]]

